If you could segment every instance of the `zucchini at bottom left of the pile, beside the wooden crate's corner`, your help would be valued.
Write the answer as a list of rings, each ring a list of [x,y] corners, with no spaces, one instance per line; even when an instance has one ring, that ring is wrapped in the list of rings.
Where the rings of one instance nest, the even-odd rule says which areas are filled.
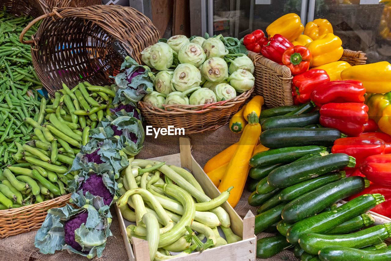
[[[285,236],[269,236],[256,241],[256,257],[269,258],[291,247]]]

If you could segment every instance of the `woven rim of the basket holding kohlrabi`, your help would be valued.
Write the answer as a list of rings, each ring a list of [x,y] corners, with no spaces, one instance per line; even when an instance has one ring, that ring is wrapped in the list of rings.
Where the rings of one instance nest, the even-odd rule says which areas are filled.
[[[160,114],[160,115],[172,115],[172,114],[197,114],[197,113],[206,113],[208,111],[213,111],[216,109],[229,109],[233,107],[235,104],[242,103],[250,97],[251,93],[254,91],[254,86],[241,93],[240,95],[230,98],[229,100],[224,100],[220,102],[215,102],[212,104],[202,104],[202,105],[188,105],[188,104],[163,104],[164,109],[159,107],[147,104],[146,102],[139,101],[138,105],[141,109],[145,109],[149,113]],[[167,109],[172,109],[168,111]]]

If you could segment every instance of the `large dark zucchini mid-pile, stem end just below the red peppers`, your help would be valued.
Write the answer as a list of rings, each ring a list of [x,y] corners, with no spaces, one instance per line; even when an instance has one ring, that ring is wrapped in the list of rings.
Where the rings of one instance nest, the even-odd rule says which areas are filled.
[[[328,172],[354,167],[355,164],[355,159],[347,154],[328,154],[278,167],[269,173],[267,183],[274,188],[287,188]]]

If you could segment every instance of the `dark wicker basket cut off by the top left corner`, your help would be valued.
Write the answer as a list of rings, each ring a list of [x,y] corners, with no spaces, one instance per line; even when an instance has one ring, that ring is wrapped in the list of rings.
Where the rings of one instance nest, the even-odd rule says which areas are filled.
[[[34,18],[49,12],[44,0],[0,0],[0,8],[7,8],[7,12],[15,16],[30,15]]]

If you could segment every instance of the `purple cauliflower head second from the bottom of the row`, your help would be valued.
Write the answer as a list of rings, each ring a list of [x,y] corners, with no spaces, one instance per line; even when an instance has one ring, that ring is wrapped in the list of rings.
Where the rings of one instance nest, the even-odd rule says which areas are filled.
[[[113,195],[111,195],[108,188],[102,180],[102,176],[97,174],[91,174],[87,180],[84,180],[83,184],[80,186],[79,190],[83,189],[83,195],[86,195],[86,192],[90,192],[94,196],[99,196],[103,198],[105,205],[110,205],[113,201]]]

